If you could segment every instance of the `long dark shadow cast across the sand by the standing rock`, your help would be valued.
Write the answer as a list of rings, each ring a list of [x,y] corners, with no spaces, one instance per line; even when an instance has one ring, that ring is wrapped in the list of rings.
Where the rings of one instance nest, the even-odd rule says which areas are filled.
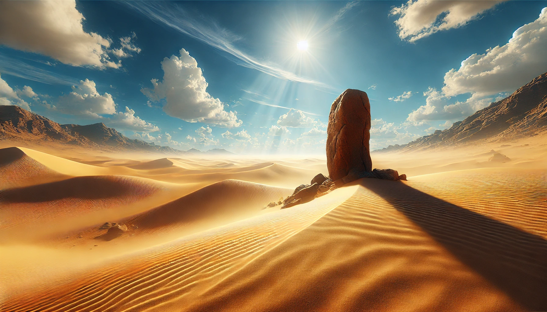
[[[404,183],[364,179],[361,185],[515,301],[532,311],[547,311],[547,240]]]

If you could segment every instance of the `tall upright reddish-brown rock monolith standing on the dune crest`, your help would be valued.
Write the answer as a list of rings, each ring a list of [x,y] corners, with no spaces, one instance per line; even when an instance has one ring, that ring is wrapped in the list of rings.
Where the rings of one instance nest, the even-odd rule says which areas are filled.
[[[366,92],[347,89],[330,107],[327,168],[333,181],[352,172],[370,172],[370,103]]]

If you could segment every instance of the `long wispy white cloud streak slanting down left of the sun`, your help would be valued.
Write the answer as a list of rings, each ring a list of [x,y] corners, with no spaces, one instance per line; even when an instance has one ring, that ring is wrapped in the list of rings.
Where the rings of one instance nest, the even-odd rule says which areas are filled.
[[[318,87],[323,87],[325,89],[330,89],[330,86],[317,81],[311,78],[306,78],[304,76],[296,75],[295,73],[289,72],[278,67],[277,64],[272,62],[260,61],[257,58],[247,55],[245,52],[237,49],[234,46],[234,42],[240,40],[241,38],[231,33],[229,30],[219,26],[216,22],[211,20],[202,20],[197,21],[193,16],[188,14],[180,7],[170,6],[166,8],[166,4],[158,2],[125,2],[129,7],[135,9],[139,13],[149,17],[153,21],[159,23],[160,25],[165,25],[171,27],[181,33],[186,34],[194,39],[200,40],[201,42],[212,46],[220,51],[226,52],[229,54],[228,57],[231,61],[234,61],[236,64],[260,70],[265,74],[274,76],[283,80],[290,80],[299,83],[306,83],[316,85]],[[353,5],[346,5],[346,11],[351,8]],[[334,19],[333,22],[336,22],[341,18],[342,13],[339,13],[339,17]],[[336,16],[335,16],[336,17]]]

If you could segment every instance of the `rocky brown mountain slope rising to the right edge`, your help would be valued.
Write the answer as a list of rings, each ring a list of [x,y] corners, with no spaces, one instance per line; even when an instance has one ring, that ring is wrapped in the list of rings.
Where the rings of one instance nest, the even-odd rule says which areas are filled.
[[[537,76],[501,101],[478,110],[449,129],[408,144],[389,145],[376,151],[404,151],[470,144],[504,142],[533,137],[547,131],[547,73]]]

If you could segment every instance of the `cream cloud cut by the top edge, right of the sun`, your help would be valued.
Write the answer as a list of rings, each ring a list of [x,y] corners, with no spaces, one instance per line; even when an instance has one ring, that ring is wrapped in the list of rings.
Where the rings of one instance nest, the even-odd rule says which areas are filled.
[[[438,31],[458,28],[500,1],[409,0],[391,10],[398,15],[399,38],[415,42]]]

